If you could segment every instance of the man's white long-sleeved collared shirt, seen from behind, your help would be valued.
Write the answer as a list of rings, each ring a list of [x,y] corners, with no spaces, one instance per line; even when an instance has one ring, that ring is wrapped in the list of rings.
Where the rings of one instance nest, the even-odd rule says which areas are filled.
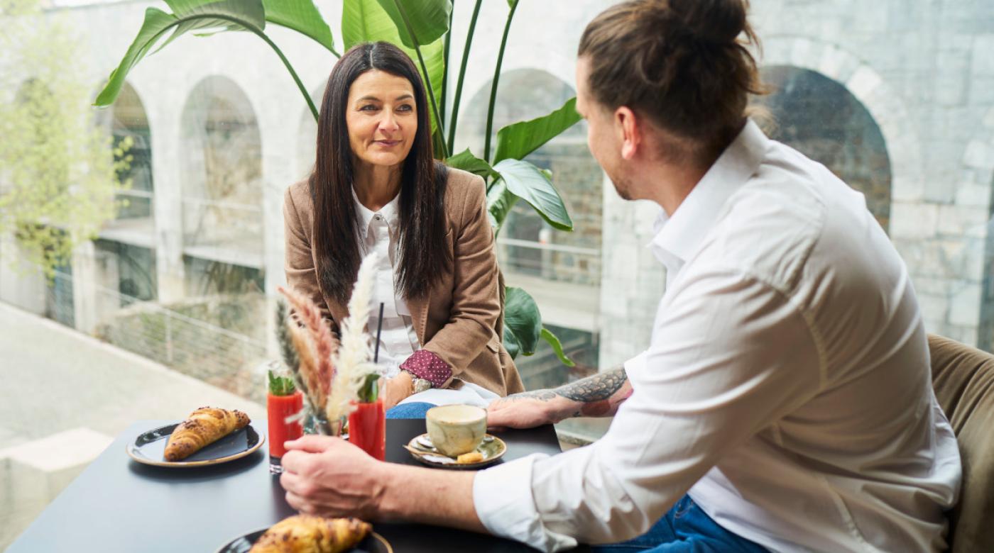
[[[863,196],[748,122],[650,244],[667,268],[607,434],[479,473],[493,533],[645,532],[684,493],[773,551],[940,551],[960,482],[908,271]]]

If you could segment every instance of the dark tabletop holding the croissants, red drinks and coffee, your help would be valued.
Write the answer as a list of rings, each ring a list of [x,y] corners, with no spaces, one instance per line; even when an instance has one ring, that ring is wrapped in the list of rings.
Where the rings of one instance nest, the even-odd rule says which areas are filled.
[[[7,553],[204,552],[295,514],[268,471],[268,444],[231,463],[198,469],[149,467],[125,446],[169,421],[139,421],[114,440],[15,541]],[[264,431],[264,422],[252,422]],[[424,432],[423,420],[387,421],[387,461],[418,465],[401,444]],[[556,454],[552,426],[497,433],[504,460]],[[502,460],[502,462],[504,461]],[[501,538],[423,524],[378,523],[397,553],[533,551]]]

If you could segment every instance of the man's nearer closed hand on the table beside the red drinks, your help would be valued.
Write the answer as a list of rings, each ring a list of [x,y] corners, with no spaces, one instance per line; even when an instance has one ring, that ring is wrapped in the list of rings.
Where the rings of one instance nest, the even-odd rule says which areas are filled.
[[[329,436],[304,436],[287,442],[286,449],[279,484],[290,506],[321,516],[377,517],[383,463]]]

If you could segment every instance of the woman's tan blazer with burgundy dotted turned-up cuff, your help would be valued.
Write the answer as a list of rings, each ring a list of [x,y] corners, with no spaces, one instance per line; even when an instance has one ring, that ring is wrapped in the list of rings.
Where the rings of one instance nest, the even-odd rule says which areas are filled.
[[[458,379],[502,396],[524,391],[518,369],[501,342],[504,283],[497,270],[483,179],[448,170],[445,220],[454,262],[427,297],[408,301],[417,340],[448,363]],[[337,331],[337,322],[348,315],[348,308],[321,291],[310,245],[314,222],[307,181],[292,185],[283,198],[286,282],[311,298]],[[450,384],[460,385],[457,379]]]

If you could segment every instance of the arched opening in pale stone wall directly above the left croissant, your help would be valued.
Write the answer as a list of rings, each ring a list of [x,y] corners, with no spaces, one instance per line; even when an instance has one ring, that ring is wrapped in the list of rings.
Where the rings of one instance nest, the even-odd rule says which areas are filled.
[[[227,76],[203,78],[187,96],[180,134],[184,248],[261,266],[261,137],[248,95]]]

